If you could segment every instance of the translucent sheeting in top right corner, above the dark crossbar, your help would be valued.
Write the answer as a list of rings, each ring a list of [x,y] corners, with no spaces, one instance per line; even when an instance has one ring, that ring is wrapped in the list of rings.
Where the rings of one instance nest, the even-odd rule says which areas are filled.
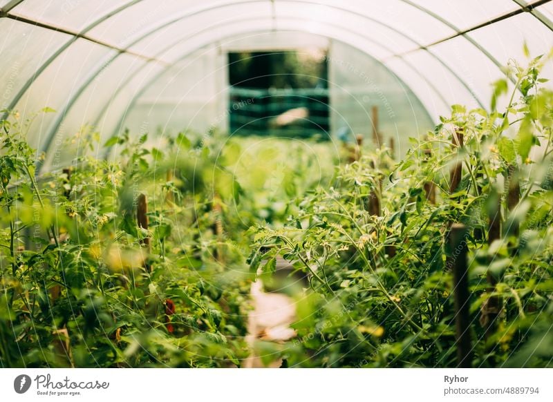
[[[458,30],[478,26],[520,8],[512,0],[412,0]]]

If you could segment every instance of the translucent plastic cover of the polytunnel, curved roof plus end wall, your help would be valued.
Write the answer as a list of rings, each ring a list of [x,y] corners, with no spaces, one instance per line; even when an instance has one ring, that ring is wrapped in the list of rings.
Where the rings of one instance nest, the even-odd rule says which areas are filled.
[[[381,104],[388,135],[415,135],[450,104],[488,107],[524,44],[547,52],[549,3],[3,1],[2,106],[57,111],[33,125],[42,151],[88,124],[203,130],[227,107],[227,52],[314,46],[329,49],[332,128],[362,130]]]

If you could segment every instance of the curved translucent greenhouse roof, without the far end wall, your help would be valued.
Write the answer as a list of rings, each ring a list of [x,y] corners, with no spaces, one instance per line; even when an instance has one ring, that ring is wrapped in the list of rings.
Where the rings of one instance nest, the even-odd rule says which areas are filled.
[[[433,118],[452,103],[486,107],[509,59],[553,46],[550,0],[0,0],[0,8],[2,108],[30,108],[37,97],[63,105],[41,122],[44,151],[72,108],[97,123],[120,99],[123,115],[198,49],[254,44],[262,32],[309,32],[371,55]],[[102,75],[111,85],[94,88]],[[82,97],[91,88],[94,97]]]

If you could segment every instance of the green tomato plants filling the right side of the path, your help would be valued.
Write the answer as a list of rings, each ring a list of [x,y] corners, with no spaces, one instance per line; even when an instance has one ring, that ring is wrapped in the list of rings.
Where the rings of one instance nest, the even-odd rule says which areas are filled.
[[[306,195],[286,227],[254,229],[253,271],[268,274],[283,256],[310,277],[310,289],[297,295],[297,338],[260,345],[267,356],[301,367],[456,366],[446,263],[456,250],[444,238],[451,222],[462,222],[472,365],[552,365],[553,92],[540,88],[542,63],[509,66],[514,88],[503,113],[496,102],[507,79],[495,84],[490,113],[455,105],[433,133],[413,139],[402,162],[393,164],[386,151],[366,153],[340,169],[330,189]],[[463,133],[464,146],[453,142],[454,132]],[[451,191],[449,171],[459,163],[462,178]],[[509,209],[515,182],[520,200]],[[425,183],[435,185],[435,204]],[[368,211],[371,197],[382,205],[379,216]],[[489,242],[498,205],[502,233]],[[501,300],[500,312],[485,336],[480,323],[489,325],[491,296]]]

